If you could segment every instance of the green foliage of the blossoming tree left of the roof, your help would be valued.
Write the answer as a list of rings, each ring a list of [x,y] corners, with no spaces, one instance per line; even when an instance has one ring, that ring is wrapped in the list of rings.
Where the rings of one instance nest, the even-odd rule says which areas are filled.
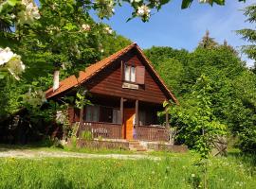
[[[15,24],[16,27],[11,33],[1,31],[1,39],[3,37],[4,41],[0,40],[0,46],[11,45],[11,50],[18,55],[12,54],[21,57],[27,68],[22,76],[18,75],[20,78],[18,82],[13,82],[11,77],[0,80],[3,106],[0,111],[1,120],[11,113],[18,112],[21,107],[27,108],[29,115],[25,119],[32,121],[34,126],[36,119],[39,123],[42,122],[42,118],[46,118],[47,121],[53,120],[56,111],[60,109],[64,111],[64,104],[58,105],[56,109],[55,105],[48,102],[44,105],[44,111],[41,105],[44,104],[43,92],[53,83],[52,74],[56,67],[60,69],[60,66],[63,66],[62,78],[77,74],[88,64],[101,60],[103,56],[108,56],[109,53],[112,54],[113,51],[130,43],[115,32],[109,34],[105,30],[105,25],[95,23],[78,4],[73,1],[41,1],[40,19],[34,20],[29,25]],[[9,9],[8,14],[17,14],[20,10],[22,9],[15,7]],[[18,17],[12,19],[10,26],[14,26],[18,20]],[[2,43],[6,41],[7,43]],[[100,47],[106,49],[103,55]],[[37,94],[41,94],[41,97]]]

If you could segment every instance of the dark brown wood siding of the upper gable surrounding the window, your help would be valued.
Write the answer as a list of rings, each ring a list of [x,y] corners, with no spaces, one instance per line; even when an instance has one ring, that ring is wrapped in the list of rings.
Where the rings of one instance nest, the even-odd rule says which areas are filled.
[[[121,61],[124,63],[132,63],[135,66],[145,66],[145,84],[139,85],[138,90],[122,88]],[[108,67],[104,68],[101,73],[97,74],[95,77],[91,77],[91,79],[84,84],[92,94],[113,95],[161,104],[167,97],[155,80],[149,68],[147,68],[142,59],[137,56],[137,53],[130,51],[119,58],[119,60],[116,60]]]

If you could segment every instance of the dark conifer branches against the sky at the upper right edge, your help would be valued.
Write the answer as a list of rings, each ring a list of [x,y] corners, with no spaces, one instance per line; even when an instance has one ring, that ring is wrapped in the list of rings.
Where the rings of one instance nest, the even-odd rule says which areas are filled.
[[[247,16],[246,22],[250,24],[256,23],[256,4],[248,6],[244,9],[244,15]],[[242,50],[249,59],[255,60],[254,69],[256,70],[256,30],[252,28],[244,28],[237,30],[239,35],[243,36],[243,39],[249,44],[242,46]]]

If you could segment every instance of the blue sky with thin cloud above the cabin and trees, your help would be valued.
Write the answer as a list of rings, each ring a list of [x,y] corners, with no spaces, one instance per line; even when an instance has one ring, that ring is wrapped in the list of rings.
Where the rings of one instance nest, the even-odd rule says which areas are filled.
[[[206,30],[210,30],[210,37],[218,43],[227,40],[237,49],[247,44],[235,33],[235,30],[251,27],[245,23],[244,9],[256,0],[247,0],[247,3],[238,0],[226,0],[225,6],[199,4],[194,0],[191,8],[180,9],[181,0],[171,0],[168,5],[163,6],[159,12],[154,11],[148,23],[143,23],[139,18],[126,23],[131,16],[132,9],[128,4],[117,7],[115,15],[104,21],[120,35],[123,35],[141,48],[151,46],[171,46],[174,48],[185,48],[192,51],[201,40]],[[247,60],[247,65],[252,66],[253,60]]]

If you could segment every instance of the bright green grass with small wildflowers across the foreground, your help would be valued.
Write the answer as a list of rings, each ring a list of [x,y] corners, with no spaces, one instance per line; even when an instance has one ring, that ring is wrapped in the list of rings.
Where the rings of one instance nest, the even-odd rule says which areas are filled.
[[[195,154],[166,153],[162,161],[0,159],[0,188],[192,188],[202,181]],[[255,157],[211,158],[209,188],[255,188]],[[201,182],[202,185],[202,182]]]

